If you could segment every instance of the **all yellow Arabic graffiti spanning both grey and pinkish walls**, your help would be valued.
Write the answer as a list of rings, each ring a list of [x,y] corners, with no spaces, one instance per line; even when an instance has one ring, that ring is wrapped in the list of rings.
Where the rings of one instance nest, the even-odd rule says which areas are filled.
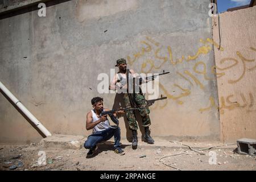
[[[203,43],[204,45],[197,49],[195,55],[188,55],[188,56],[182,55],[180,59],[174,59],[172,49],[170,46],[167,46],[166,48],[164,48],[163,46],[160,46],[159,42],[156,42],[155,40],[153,40],[152,38],[147,36],[146,40],[140,42],[142,47],[139,49],[138,52],[135,52],[133,54],[133,59],[131,59],[130,56],[127,56],[127,61],[128,61],[128,64],[130,66],[132,66],[135,63],[135,61],[138,61],[139,58],[142,58],[143,56],[145,56],[146,53],[150,53],[150,52],[153,53],[154,59],[146,59],[141,64],[141,73],[150,73],[152,71],[152,69],[158,70],[160,68],[163,68],[164,64],[166,64],[167,62],[170,63],[171,65],[177,65],[177,64],[183,63],[184,61],[190,62],[192,60],[196,60],[199,58],[200,55],[207,55],[212,50],[212,46],[210,46],[210,45],[213,45],[214,47],[217,47],[217,48],[219,47],[219,45],[216,42],[214,42],[212,39],[209,39],[209,38],[207,38],[205,40],[200,39],[200,43]],[[250,49],[252,51],[256,51],[256,49],[253,47],[250,47]],[[152,52],[152,51],[154,51],[154,52]],[[220,51],[224,51],[224,48],[220,47]],[[242,77],[245,75],[246,63],[252,63],[253,61],[255,61],[254,59],[246,59],[239,51],[237,51],[237,56],[242,61],[243,72],[242,72],[242,75],[237,80],[231,80],[231,79],[228,80],[229,84],[234,84],[234,83],[240,81],[242,79]],[[238,63],[239,63],[239,61],[232,57],[227,57],[227,58],[221,59],[220,65],[224,65],[224,67],[217,67],[217,66],[213,65],[210,68],[210,73],[215,75],[217,78],[220,78],[222,76],[225,76],[225,71],[232,69]],[[254,70],[255,68],[256,68],[256,66],[253,68],[249,68],[248,70],[251,71],[251,70]],[[198,61],[195,63],[195,65],[193,66],[193,72],[195,72],[198,75],[203,75],[205,80],[209,81],[209,80],[214,79],[214,77],[210,78],[207,76],[207,64],[205,64],[203,61]],[[192,85],[192,87],[193,87],[193,83],[190,79],[192,79],[196,85],[200,86],[200,88],[202,90],[205,89],[203,83],[199,80],[199,78],[197,78],[196,75],[189,72],[188,70],[184,71],[184,75],[180,72],[176,72],[176,74],[179,75],[184,80],[188,81],[189,84]],[[174,84],[173,86],[180,89],[181,93],[178,96],[176,96],[176,94],[171,94],[163,86],[163,84],[161,82],[159,82],[160,92],[165,94],[169,99],[176,101],[177,104],[182,105],[184,102],[181,101],[180,98],[189,96],[189,94],[191,94],[191,90],[182,88],[179,84]],[[233,96],[230,96],[227,98],[228,104],[230,104],[229,102],[231,102],[230,99],[232,97]],[[223,104],[223,100],[224,100],[224,98],[221,98],[222,104]],[[166,106],[167,103],[168,103],[168,100],[166,100],[165,104],[160,107]],[[211,108],[213,106],[216,107],[213,104],[214,104],[213,97],[210,97],[210,106],[205,109],[200,109],[200,111],[209,110],[209,108]],[[233,108],[236,108],[238,105],[236,103],[232,103],[232,105],[225,106],[225,104],[223,104],[223,106],[228,109],[230,109],[230,108],[233,109]],[[221,110],[221,112],[222,112],[222,110]]]

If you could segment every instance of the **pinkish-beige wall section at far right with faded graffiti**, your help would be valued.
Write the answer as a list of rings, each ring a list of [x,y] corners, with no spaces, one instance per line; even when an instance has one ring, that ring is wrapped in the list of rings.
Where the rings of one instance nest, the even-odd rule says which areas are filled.
[[[214,48],[221,139],[256,138],[256,7],[220,14],[221,46]],[[219,42],[218,18],[213,28]],[[209,102],[210,103],[210,102]],[[210,106],[210,104],[209,104]],[[212,107],[216,105],[212,102]]]

